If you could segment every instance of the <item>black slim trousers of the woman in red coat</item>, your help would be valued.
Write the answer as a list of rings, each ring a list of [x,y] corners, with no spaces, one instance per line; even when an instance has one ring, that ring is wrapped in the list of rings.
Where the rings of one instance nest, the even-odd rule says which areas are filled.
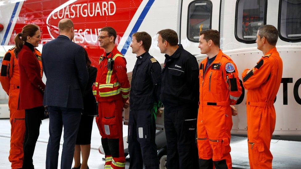
[[[37,143],[40,134],[41,120],[44,117],[44,107],[34,107],[25,109],[25,139],[24,139],[24,159],[23,169],[34,168],[32,156],[35,151],[35,144]]]

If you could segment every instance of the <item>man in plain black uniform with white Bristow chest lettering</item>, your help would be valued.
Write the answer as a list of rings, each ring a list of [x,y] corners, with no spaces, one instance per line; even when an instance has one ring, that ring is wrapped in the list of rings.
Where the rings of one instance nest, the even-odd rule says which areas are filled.
[[[158,46],[165,54],[160,100],[164,105],[167,168],[198,168],[196,119],[199,102],[199,70],[196,58],[178,45],[174,30],[158,32]]]

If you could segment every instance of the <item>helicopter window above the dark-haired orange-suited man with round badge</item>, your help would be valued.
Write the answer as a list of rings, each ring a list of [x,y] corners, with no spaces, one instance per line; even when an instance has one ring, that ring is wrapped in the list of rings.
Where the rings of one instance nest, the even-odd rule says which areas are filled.
[[[188,5],[187,38],[199,42],[200,31],[211,29],[212,2],[193,1]]]

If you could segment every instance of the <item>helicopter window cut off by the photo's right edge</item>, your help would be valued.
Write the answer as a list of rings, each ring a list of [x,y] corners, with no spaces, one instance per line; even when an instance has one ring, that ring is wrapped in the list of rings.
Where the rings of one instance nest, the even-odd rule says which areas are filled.
[[[279,4],[278,31],[280,39],[301,42],[301,2],[282,0]]]

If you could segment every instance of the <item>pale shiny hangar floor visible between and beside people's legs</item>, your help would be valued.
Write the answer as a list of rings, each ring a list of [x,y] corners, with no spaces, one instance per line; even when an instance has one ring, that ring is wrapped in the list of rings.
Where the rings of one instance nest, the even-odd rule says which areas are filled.
[[[45,168],[46,148],[49,137],[48,133],[49,120],[43,120],[40,127],[40,135],[35,147],[33,162],[36,169]],[[127,126],[123,127],[123,135],[127,135]],[[63,143],[61,139],[61,144]],[[104,166],[104,155],[98,152],[101,144],[101,137],[97,129],[95,120],[93,122],[91,152],[88,165],[91,169],[101,169]],[[0,119],[0,169],[9,169],[8,161],[10,148],[10,123],[8,119]],[[60,146],[60,153],[62,146]],[[272,140],[270,148],[274,159],[274,169],[301,169],[301,142]],[[247,139],[233,137],[231,141],[231,156],[233,168],[249,168]],[[60,166],[60,157],[59,157]],[[126,169],[129,163],[126,163]],[[59,167],[60,168],[60,167]]]

